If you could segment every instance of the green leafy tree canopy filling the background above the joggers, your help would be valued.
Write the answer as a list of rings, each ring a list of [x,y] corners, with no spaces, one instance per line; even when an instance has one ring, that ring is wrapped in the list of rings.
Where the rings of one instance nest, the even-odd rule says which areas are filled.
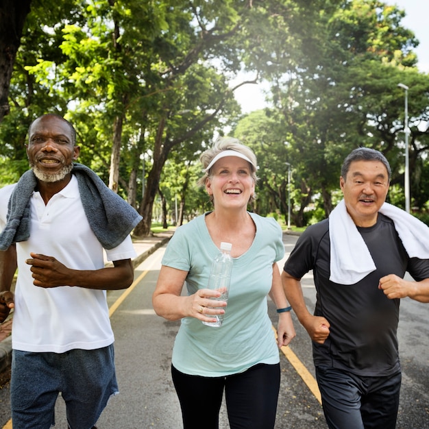
[[[310,221],[313,204],[328,215],[341,162],[359,145],[387,156],[391,198],[403,205],[402,82],[410,88],[411,196],[413,206],[426,209],[428,75],[417,70],[418,42],[396,6],[373,0],[17,3],[28,10],[31,3],[31,10],[20,10],[19,42],[4,39],[15,43],[16,58],[0,45],[0,83],[7,86],[0,93],[3,184],[28,168],[29,124],[56,112],[76,127],[80,162],[143,215],[136,235],[149,234],[158,199],[164,211],[178,204],[179,223],[208,209],[195,179],[199,154],[216,134],[233,134],[256,152],[259,198],[252,210],[262,215],[286,215],[288,192],[297,225]],[[0,14],[1,34],[16,10]],[[237,80],[243,72],[254,79]],[[234,90],[262,79],[271,87],[269,108],[241,114]]]

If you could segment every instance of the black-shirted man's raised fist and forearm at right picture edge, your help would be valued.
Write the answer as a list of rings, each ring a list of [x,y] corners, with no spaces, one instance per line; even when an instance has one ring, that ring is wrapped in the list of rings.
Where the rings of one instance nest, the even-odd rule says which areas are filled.
[[[380,278],[378,287],[389,299],[410,297],[415,301],[429,302],[428,278],[421,280],[421,282],[409,282],[395,274],[389,274]]]

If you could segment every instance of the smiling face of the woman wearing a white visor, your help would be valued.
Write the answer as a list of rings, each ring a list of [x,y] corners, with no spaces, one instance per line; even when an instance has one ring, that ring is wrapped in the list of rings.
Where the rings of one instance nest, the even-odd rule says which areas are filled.
[[[254,194],[255,183],[249,162],[236,156],[225,156],[211,168],[206,189],[216,206],[244,207]]]

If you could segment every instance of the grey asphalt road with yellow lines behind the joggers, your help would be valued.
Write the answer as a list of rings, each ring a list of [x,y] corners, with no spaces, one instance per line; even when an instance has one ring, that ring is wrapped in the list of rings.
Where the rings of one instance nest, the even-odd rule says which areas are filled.
[[[296,238],[284,236],[286,254],[293,248]],[[158,278],[163,252],[164,247],[137,267],[136,285],[127,291],[125,298],[123,291],[108,293],[109,305],[117,305],[111,320],[116,337],[117,378],[121,393],[110,400],[97,424],[99,429],[182,428],[180,406],[170,375],[171,350],[179,322],[165,321],[156,316],[151,307],[151,294]],[[315,289],[311,275],[303,279],[303,286],[308,307],[312,308]],[[119,303],[118,299],[123,301]],[[275,323],[275,308],[270,300],[269,313]],[[429,304],[403,300],[399,328],[403,382],[397,429],[429,428],[428,319]],[[298,362],[308,369],[304,378],[311,384],[314,381],[314,369],[310,340],[296,319],[295,329],[297,337],[289,348],[297,356]],[[321,405],[302,375],[282,352],[280,361],[282,382],[276,428],[327,428]],[[9,389],[6,385],[0,390],[0,427],[10,419],[9,407]],[[56,428],[66,429],[61,398],[57,402],[56,418]],[[201,427],[204,427],[204,423]],[[221,408],[219,428],[229,428],[225,406]]]

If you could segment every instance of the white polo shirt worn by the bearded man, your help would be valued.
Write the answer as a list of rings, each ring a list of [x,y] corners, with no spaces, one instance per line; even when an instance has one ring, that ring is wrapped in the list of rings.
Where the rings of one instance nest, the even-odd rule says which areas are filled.
[[[14,184],[0,189],[0,228],[3,229]],[[96,270],[104,267],[103,247],[90,230],[79,196],[77,179],[53,195],[45,206],[34,192],[28,241],[16,243],[18,280],[12,325],[12,348],[27,352],[63,353],[73,349],[94,350],[113,343],[106,291],[59,286],[34,286],[30,252],[53,256],[66,267]],[[131,237],[106,250],[108,260],[136,256]]]

